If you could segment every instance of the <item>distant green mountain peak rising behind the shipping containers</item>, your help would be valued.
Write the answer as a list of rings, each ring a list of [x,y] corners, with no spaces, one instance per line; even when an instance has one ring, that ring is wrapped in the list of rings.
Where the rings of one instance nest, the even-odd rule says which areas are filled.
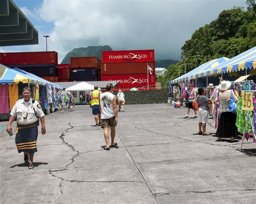
[[[112,51],[112,48],[108,45],[73,48],[60,64],[70,64],[71,57],[97,57],[102,60],[102,51]]]

